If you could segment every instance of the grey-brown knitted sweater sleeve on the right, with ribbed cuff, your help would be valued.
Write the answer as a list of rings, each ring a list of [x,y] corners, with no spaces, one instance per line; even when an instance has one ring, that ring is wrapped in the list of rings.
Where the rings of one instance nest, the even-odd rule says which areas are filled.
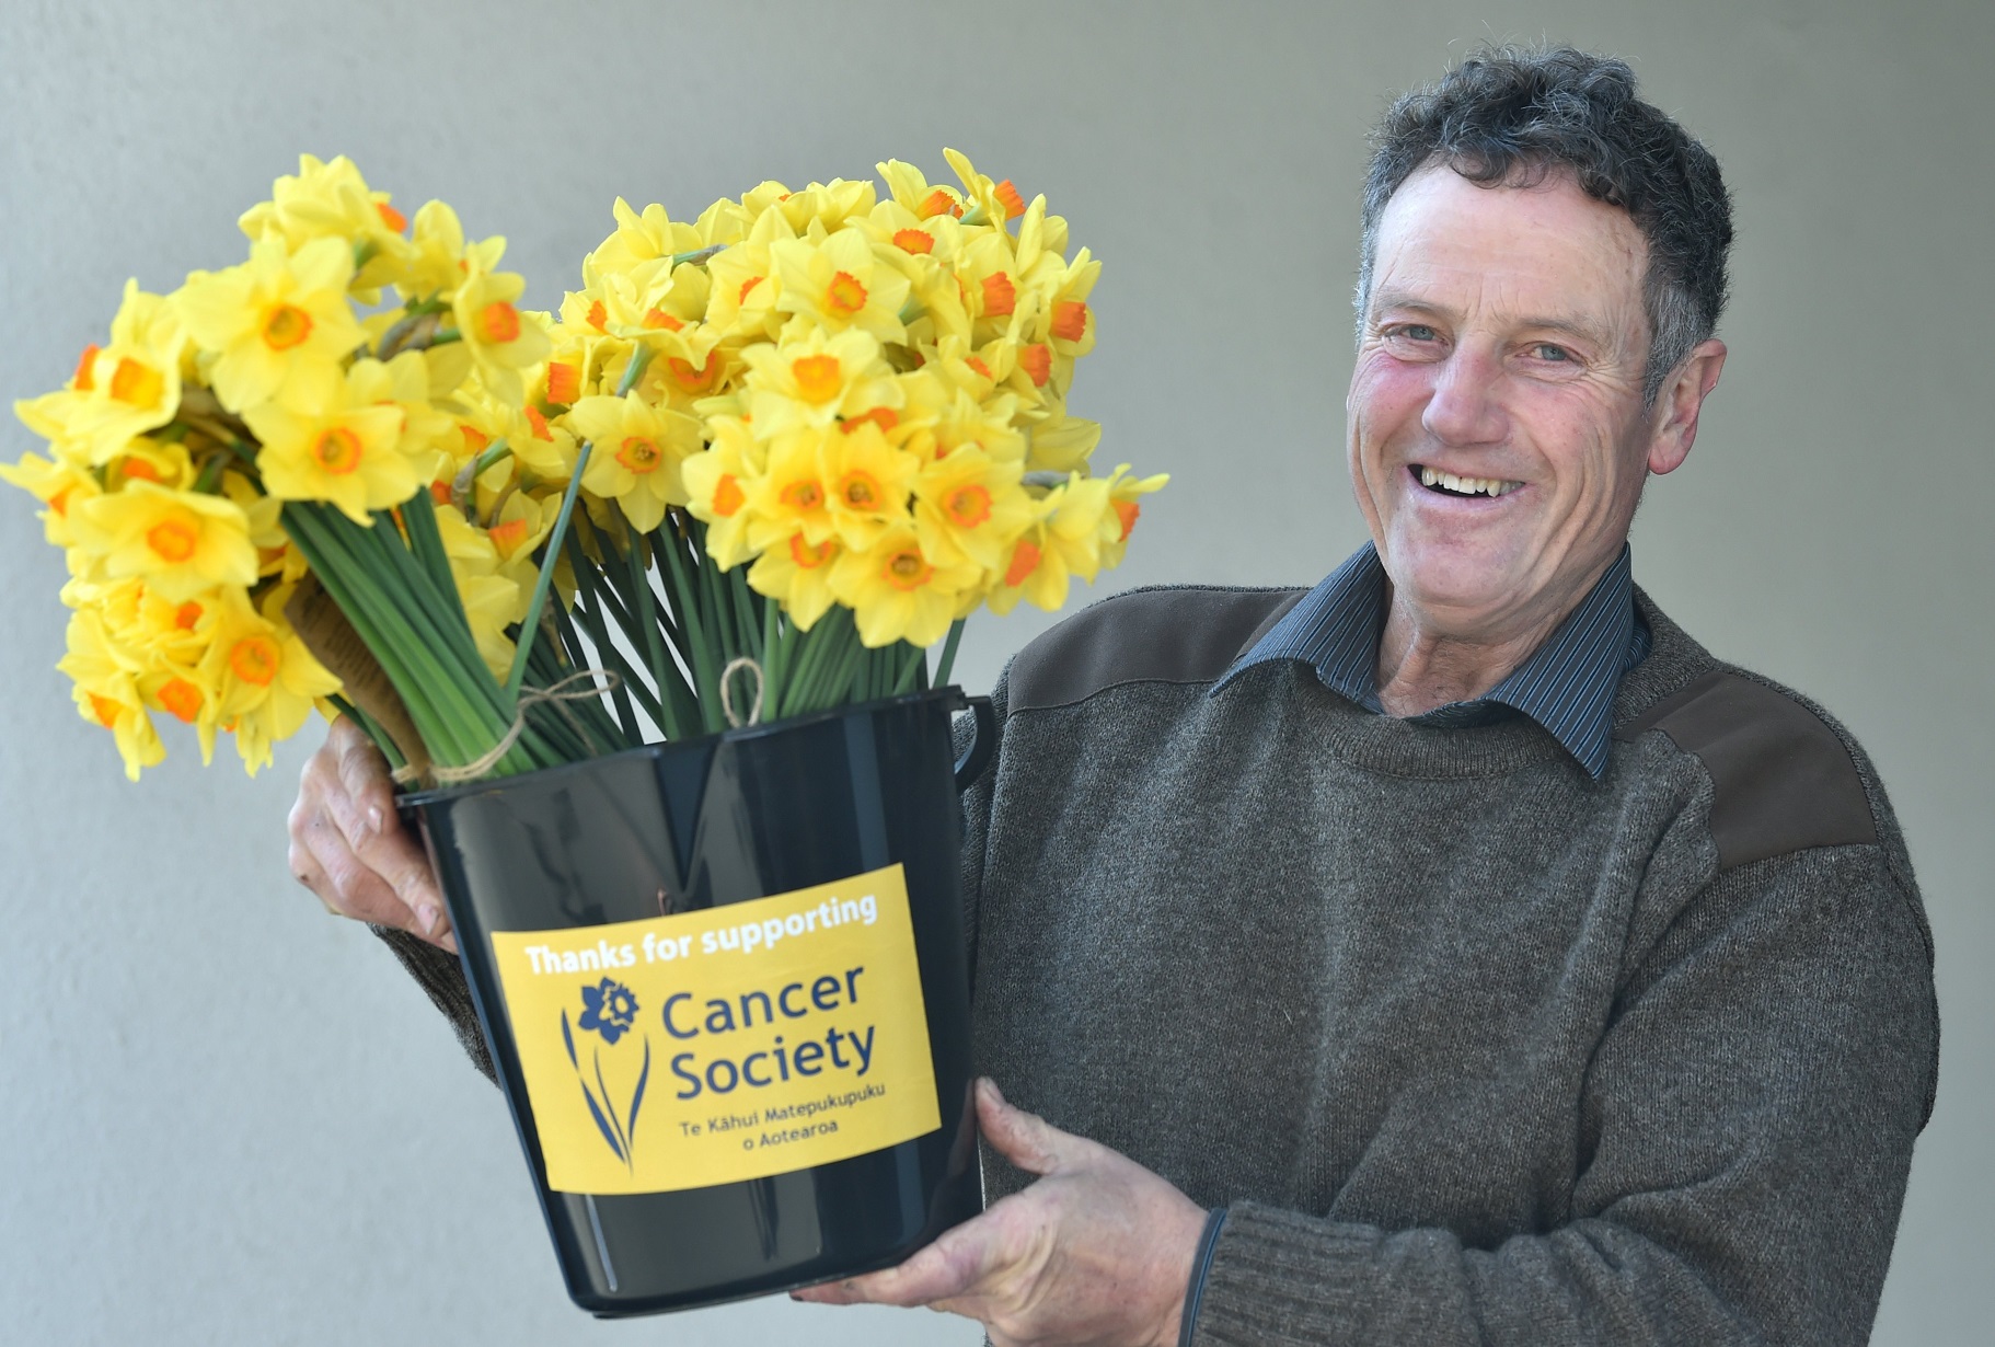
[[[1740,866],[1622,982],[1562,1225],[1466,1247],[1239,1201],[1189,1341],[1863,1343],[1937,1036],[1877,846]]]

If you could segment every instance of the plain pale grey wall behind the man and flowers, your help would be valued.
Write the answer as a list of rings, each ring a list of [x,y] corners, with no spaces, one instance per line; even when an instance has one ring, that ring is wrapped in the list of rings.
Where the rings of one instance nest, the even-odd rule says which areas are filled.
[[[616,194],[690,216],[764,176],[940,174],[950,144],[1107,259],[1075,405],[1109,465],[1175,483],[1101,589],[1315,581],[1363,537],[1341,403],[1365,130],[1486,36],[1628,56],[1738,192],[1732,363],[1650,493],[1636,573],[1714,651],[1845,718],[1895,794],[1945,1056],[1875,1341],[1987,1341],[1985,0],[8,0],[0,391],[56,387],[126,275],[168,289],[237,259],[237,212],[301,150],[507,233],[553,305]],[[0,459],[28,447],[0,427]],[[255,782],[178,738],[128,786],[50,669],[62,561],[12,491],[0,575],[10,1341],[978,1339],[782,1299],[608,1325],[569,1307],[497,1096],[285,872],[317,730]],[[976,623],[966,682],[1039,627]]]

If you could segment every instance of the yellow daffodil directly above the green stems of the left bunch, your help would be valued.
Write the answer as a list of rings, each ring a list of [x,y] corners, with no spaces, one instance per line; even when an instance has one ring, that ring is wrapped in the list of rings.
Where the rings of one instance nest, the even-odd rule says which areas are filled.
[[[263,489],[279,501],[323,501],[357,525],[371,525],[377,509],[407,501],[425,473],[401,451],[403,409],[393,401],[327,405],[313,415],[263,403],[243,413],[261,441],[257,471]]]

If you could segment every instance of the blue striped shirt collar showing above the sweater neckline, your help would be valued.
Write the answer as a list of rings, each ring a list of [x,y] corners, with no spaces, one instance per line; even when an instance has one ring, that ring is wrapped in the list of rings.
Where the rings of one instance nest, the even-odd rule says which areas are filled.
[[[1626,543],[1566,621],[1502,682],[1470,702],[1450,702],[1412,724],[1486,724],[1520,710],[1566,746],[1598,780],[1614,736],[1614,692],[1624,673],[1648,659],[1650,635],[1634,611]],[[1385,631],[1387,583],[1377,549],[1367,543],[1321,585],[1303,595],[1251,651],[1213,684],[1219,692],[1243,669],[1303,661],[1323,684],[1365,710],[1379,704],[1379,637]]]

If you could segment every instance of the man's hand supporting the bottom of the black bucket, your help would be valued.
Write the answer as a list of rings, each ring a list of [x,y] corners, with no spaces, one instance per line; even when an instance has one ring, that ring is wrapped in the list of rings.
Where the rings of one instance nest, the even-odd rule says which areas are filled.
[[[1047,1125],[978,1082],[978,1123],[1043,1175],[900,1267],[792,1291],[820,1305],[928,1305],[996,1347],[1175,1347],[1205,1211],[1133,1159]]]

